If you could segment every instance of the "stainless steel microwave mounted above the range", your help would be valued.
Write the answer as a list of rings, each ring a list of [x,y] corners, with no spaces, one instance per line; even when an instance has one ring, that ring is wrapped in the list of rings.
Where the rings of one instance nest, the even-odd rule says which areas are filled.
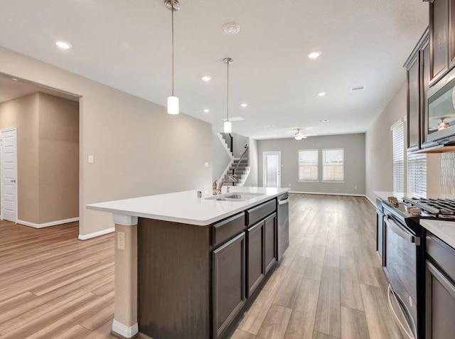
[[[455,70],[428,90],[424,144],[455,142]]]

